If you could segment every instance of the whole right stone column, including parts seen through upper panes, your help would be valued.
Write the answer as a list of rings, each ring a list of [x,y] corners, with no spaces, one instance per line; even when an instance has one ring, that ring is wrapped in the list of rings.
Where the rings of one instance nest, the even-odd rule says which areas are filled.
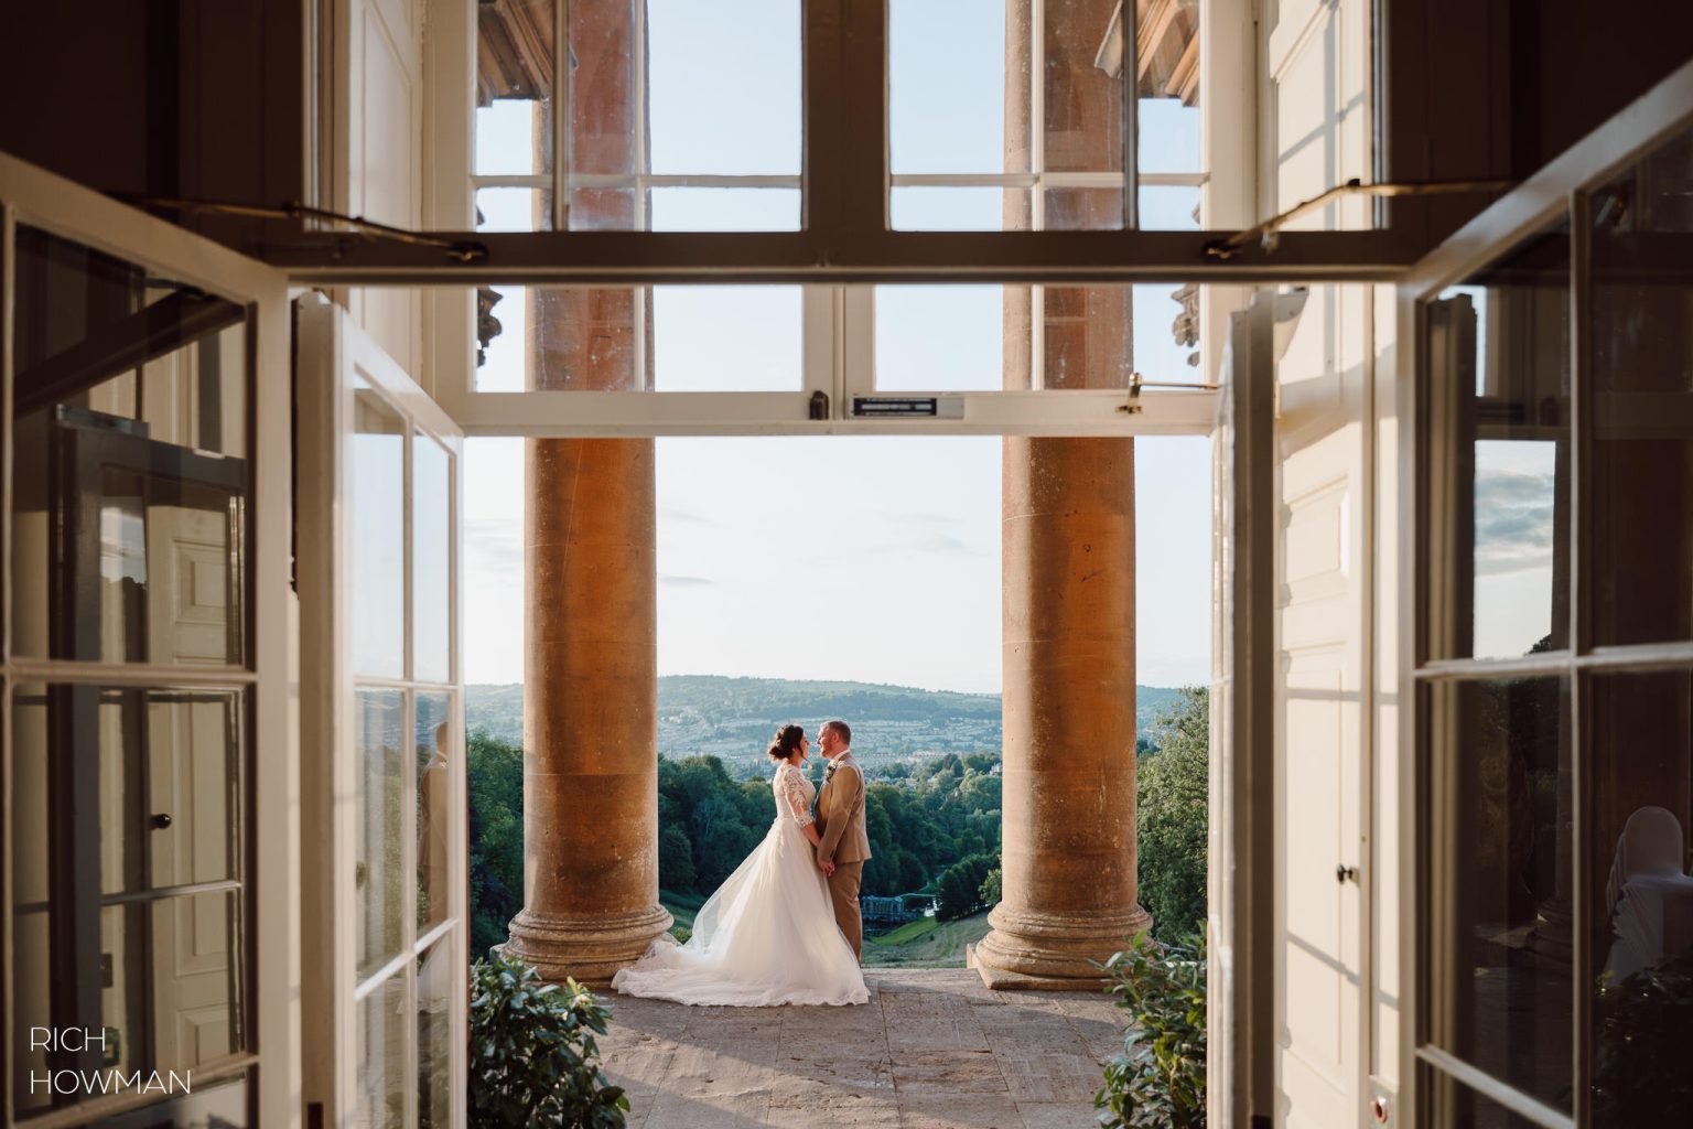
[[[1006,166],[1121,168],[1121,90],[1084,51],[1107,0],[1046,7],[1046,120],[1007,85]],[[1007,74],[1029,69],[1031,7],[1007,3]],[[1006,227],[1026,227],[1007,191]],[[1121,227],[1114,190],[1050,193],[1048,229]],[[1126,388],[1128,288],[1006,288],[1006,388],[1029,388],[1041,322],[1045,388]],[[1092,987],[1104,960],[1151,926],[1136,902],[1134,442],[1007,438],[1004,447],[1002,900],[972,960],[992,987]]]

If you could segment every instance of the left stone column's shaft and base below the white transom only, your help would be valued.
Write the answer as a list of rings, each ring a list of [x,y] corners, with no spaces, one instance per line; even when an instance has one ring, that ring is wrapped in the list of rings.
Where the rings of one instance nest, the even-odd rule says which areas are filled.
[[[510,953],[604,982],[659,904],[653,443],[528,443],[523,912]]]

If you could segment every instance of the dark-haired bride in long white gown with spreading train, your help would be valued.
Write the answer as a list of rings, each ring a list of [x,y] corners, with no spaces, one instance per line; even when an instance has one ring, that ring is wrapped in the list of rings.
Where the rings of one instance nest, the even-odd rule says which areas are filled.
[[[863,1004],[858,958],[835,924],[813,848],[816,789],[801,765],[811,741],[784,724],[770,741],[775,819],[764,841],[694,914],[686,945],[665,934],[611,987],[677,1004]]]

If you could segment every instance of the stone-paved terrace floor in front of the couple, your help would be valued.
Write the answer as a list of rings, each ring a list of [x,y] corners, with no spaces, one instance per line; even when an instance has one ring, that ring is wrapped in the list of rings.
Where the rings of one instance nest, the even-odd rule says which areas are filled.
[[[862,1007],[603,995],[631,1129],[1080,1129],[1122,1012],[1104,992],[994,992],[965,968],[865,970]]]

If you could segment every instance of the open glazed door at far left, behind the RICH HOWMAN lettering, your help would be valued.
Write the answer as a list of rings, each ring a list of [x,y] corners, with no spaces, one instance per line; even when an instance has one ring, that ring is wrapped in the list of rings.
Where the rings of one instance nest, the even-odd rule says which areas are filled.
[[[0,210],[7,1122],[288,1124],[286,284],[3,156]]]

